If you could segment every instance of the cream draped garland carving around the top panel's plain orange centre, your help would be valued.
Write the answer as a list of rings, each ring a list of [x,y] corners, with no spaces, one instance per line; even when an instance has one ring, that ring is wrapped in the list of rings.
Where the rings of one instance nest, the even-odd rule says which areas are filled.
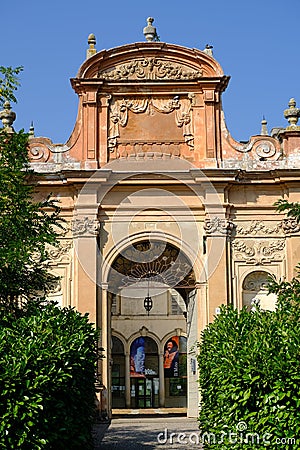
[[[193,97],[180,99],[175,96],[172,99],[161,98],[142,98],[142,99],[115,99],[112,98],[109,107],[109,133],[108,148],[111,152],[117,146],[117,138],[120,137],[119,127],[126,127],[128,122],[128,111],[135,114],[141,114],[148,111],[151,114],[152,109],[162,113],[169,114],[175,111],[175,123],[177,127],[182,128],[182,134],[186,144],[191,150],[194,148],[194,134],[191,117],[191,105]]]

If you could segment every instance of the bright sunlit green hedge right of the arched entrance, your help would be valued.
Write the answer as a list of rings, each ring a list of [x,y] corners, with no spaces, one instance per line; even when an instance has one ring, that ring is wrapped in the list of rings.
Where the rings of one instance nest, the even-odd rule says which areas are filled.
[[[204,330],[198,362],[205,448],[300,448],[299,321],[299,300],[282,301],[275,312],[223,306]]]

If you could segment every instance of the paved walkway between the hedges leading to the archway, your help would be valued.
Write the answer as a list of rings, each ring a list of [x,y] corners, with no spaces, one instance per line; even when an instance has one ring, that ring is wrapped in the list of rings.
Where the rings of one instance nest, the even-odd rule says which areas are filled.
[[[198,440],[196,419],[133,416],[113,419],[96,450],[201,449]]]

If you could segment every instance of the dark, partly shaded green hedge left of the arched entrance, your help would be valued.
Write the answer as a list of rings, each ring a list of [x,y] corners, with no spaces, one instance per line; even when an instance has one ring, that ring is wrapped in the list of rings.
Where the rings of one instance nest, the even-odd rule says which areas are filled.
[[[98,333],[50,303],[0,312],[0,448],[93,448]]]

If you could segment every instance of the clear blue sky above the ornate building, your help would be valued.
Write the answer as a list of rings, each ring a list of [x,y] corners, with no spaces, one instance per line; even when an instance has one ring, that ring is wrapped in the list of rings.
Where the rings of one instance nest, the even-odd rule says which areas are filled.
[[[15,128],[65,142],[77,115],[69,79],[85,59],[87,36],[97,50],[144,41],[146,18],[161,41],[203,49],[231,80],[223,94],[227,126],[237,140],[286,126],[291,97],[300,107],[300,1],[289,0],[15,0],[1,5],[0,65],[24,66]]]

